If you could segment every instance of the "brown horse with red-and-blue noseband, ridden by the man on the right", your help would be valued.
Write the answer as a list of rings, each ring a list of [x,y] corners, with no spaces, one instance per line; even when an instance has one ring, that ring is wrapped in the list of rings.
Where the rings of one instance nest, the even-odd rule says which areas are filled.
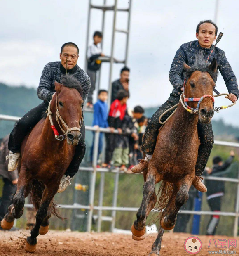
[[[160,216],[159,234],[152,245],[150,256],[159,255],[164,230],[173,229],[177,213],[188,199],[199,148],[198,119],[202,123],[209,123],[213,116],[211,96],[215,87],[213,78],[217,74],[216,59],[209,66],[201,57],[192,68],[184,64],[184,69],[187,77],[185,97],[204,98],[199,104],[198,114],[185,111],[184,102],[178,104],[175,114],[159,130],[154,154],[148,170],[144,170],[143,200],[136,215],[137,220],[131,228],[135,240],[144,239],[146,219],[157,202],[155,184],[163,181],[158,203],[159,210],[164,211]],[[197,102],[189,102],[188,106],[196,108]]]

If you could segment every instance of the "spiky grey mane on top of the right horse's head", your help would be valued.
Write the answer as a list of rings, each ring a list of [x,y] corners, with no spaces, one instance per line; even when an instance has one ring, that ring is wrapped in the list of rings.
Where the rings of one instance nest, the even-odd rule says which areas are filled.
[[[210,66],[210,63],[206,62],[206,60],[204,59],[204,53],[200,51],[196,55],[195,63],[193,64],[193,66],[191,66],[190,69],[187,69],[187,71],[185,71],[185,77],[190,77],[194,71],[201,71],[201,72],[209,73],[213,81],[216,82],[218,71],[213,72],[209,68],[209,66]]]

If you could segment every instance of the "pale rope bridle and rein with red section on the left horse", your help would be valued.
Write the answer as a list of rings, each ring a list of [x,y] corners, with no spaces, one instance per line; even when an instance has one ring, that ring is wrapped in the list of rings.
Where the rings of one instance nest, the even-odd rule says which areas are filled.
[[[73,130],[77,130],[77,131],[80,132],[80,128],[81,128],[82,125],[83,125],[83,117],[81,116],[81,119],[80,119],[80,128],[78,128],[78,127],[69,128],[69,127],[67,126],[67,124],[63,121],[63,119],[61,118],[61,115],[60,115],[60,113],[59,113],[59,110],[58,110],[58,101],[57,101],[57,94],[56,94],[56,121],[57,121],[59,127],[61,128],[62,132],[64,133],[63,135],[59,135],[59,133],[58,133],[58,131],[56,130],[56,128],[55,128],[55,126],[54,126],[54,124],[53,124],[53,121],[52,121],[52,116],[51,116],[51,115],[52,115],[52,112],[51,112],[51,102],[52,102],[52,100],[50,100],[49,105],[48,105],[47,116],[49,116],[49,120],[50,120],[50,123],[51,123],[51,128],[52,128],[52,130],[53,130],[53,132],[54,132],[54,135],[55,135],[56,140],[62,141],[62,140],[64,139],[64,136],[65,136],[65,135],[67,136],[67,134],[68,134],[69,132],[73,131]],[[66,131],[65,131],[65,130],[62,128],[62,126],[60,125],[59,119],[61,120],[61,123],[63,124],[63,126],[65,126]],[[60,137],[61,137],[61,139],[60,139]]]

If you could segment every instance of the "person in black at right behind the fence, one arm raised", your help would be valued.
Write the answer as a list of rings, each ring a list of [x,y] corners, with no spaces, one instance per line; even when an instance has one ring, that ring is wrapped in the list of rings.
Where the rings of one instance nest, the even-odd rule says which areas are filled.
[[[213,177],[222,177],[230,170],[226,169],[232,164],[235,153],[233,150],[230,152],[230,157],[223,163],[223,159],[220,156],[213,158],[213,168],[206,168],[206,175]],[[216,228],[219,223],[219,215],[217,212],[221,211],[221,198],[224,196],[224,181],[218,180],[206,180],[207,187],[207,201],[211,211],[215,212],[215,215],[211,216],[211,220],[208,223],[206,235],[215,235]]]

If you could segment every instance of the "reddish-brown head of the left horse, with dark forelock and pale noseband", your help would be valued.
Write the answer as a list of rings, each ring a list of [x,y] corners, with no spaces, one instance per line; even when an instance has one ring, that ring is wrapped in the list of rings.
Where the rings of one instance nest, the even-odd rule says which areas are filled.
[[[65,75],[62,83],[55,81],[55,90],[52,101],[56,102],[56,112],[59,112],[59,126],[65,130],[68,145],[76,146],[81,137],[80,123],[83,122],[82,87],[73,76]]]

